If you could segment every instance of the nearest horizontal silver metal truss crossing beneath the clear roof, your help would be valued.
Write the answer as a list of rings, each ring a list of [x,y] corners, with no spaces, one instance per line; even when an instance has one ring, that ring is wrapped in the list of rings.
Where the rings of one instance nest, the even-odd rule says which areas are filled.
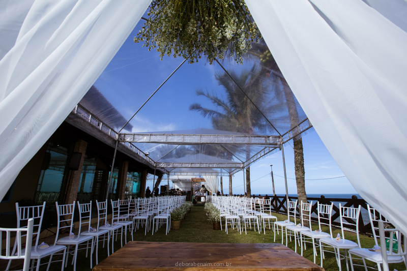
[[[265,135],[189,135],[189,134],[133,134],[119,135],[119,142],[158,143],[176,145],[233,144],[233,145],[275,145],[281,136]]]

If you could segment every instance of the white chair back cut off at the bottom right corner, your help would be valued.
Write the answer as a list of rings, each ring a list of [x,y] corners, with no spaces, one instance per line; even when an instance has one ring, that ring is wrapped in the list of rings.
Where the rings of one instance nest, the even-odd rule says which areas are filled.
[[[405,264],[405,255],[407,255],[407,236],[401,233],[397,229],[385,229],[385,221],[379,219],[377,224],[379,225],[379,234],[380,234],[380,248],[382,250],[382,259],[383,259],[383,271],[389,271],[389,261],[388,256],[402,256]],[[386,249],[386,232],[390,234],[390,246],[389,251]],[[397,236],[397,252],[393,251],[393,236]],[[403,246],[401,243],[401,236],[403,236]],[[395,269],[394,269],[395,270]]]

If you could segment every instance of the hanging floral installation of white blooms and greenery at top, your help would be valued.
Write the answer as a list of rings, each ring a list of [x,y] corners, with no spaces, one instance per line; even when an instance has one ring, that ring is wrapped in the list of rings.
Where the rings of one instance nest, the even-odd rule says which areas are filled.
[[[153,0],[149,18],[134,37],[149,50],[182,56],[189,63],[201,54],[210,64],[225,53],[242,64],[242,55],[260,32],[243,0]]]

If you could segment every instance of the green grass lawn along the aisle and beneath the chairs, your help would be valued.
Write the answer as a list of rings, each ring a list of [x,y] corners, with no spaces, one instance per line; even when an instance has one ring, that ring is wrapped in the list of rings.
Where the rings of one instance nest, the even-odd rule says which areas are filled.
[[[276,214],[278,220],[285,220],[287,219],[286,216]],[[317,224],[313,225],[313,228],[317,228]],[[323,231],[329,232],[329,228],[323,228]],[[333,233],[340,232],[339,229],[334,229]],[[346,239],[355,240],[356,241],[356,234],[354,233],[345,233]],[[212,223],[207,220],[205,211],[203,210],[203,206],[194,206],[191,208],[191,212],[187,214],[186,219],[181,221],[181,227],[179,230],[170,230],[167,235],[165,235],[165,226],[161,227],[158,232],[155,232],[154,235],[150,232],[147,235],[144,235],[144,228],[138,229],[135,233],[133,233],[133,239],[135,241],[146,241],[146,242],[187,242],[187,243],[274,243],[274,233],[272,230],[266,229],[266,234],[261,232],[258,234],[258,231],[248,230],[247,234],[243,233],[240,234],[236,228],[232,230],[228,228],[228,234],[221,230],[213,230]],[[366,235],[360,235],[361,244],[364,248],[372,248],[374,246],[374,240],[372,237],[368,237]],[[127,240],[131,241],[131,235],[128,232]],[[276,235],[276,242],[281,243],[281,231],[279,235]],[[284,236],[284,245],[285,245],[285,236]],[[288,247],[294,250],[294,241],[288,242]],[[117,251],[120,249],[120,241],[118,239],[117,242],[114,243],[114,250]],[[320,264],[321,260],[319,258],[319,248],[317,248],[318,256],[316,257],[316,264]],[[301,249],[298,246],[297,252],[301,253]],[[310,261],[313,261],[313,253],[312,253],[312,244],[307,246],[307,250],[304,251],[303,256]],[[107,249],[102,248],[102,243],[99,244],[99,262],[102,261],[107,257]],[[69,257],[72,259],[72,256]],[[43,260],[44,262],[46,259]],[[93,255],[93,262],[94,265],[96,264],[95,255]],[[362,261],[354,261],[354,263],[361,264]],[[374,266],[374,263],[367,262],[368,265]],[[3,265],[3,264],[2,264]],[[326,253],[323,267],[326,270],[339,270],[335,256],[333,253]],[[405,266],[403,263],[399,264],[391,264],[390,270],[394,268],[398,270],[405,270]],[[46,269],[46,265],[41,267],[41,271]],[[59,271],[61,270],[60,263],[53,263],[51,264],[50,270],[52,271]],[[68,263],[67,271],[73,270],[72,265],[70,262]],[[78,259],[77,259],[77,266],[76,270],[78,271],[89,271],[90,270],[90,260],[89,258],[85,258],[85,251],[82,250],[78,252]],[[346,270],[346,263],[345,260],[342,260],[342,270]],[[355,266],[356,270],[364,270],[363,266]]]

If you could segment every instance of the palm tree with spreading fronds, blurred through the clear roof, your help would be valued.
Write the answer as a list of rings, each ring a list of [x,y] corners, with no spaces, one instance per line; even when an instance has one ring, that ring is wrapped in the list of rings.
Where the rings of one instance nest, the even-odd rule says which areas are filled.
[[[227,73],[216,73],[215,78],[219,85],[222,85],[226,92],[226,101],[219,98],[215,93],[210,94],[203,89],[196,89],[196,95],[206,97],[219,110],[203,108],[199,103],[192,104],[189,109],[201,113],[203,117],[210,117],[214,129],[237,132],[242,134],[270,134],[273,133],[272,126],[267,119],[254,106],[264,113],[271,114],[282,110],[279,99],[271,97],[276,94],[273,89],[261,80],[260,69],[253,65],[250,71],[244,71],[237,75],[234,71],[229,74],[238,85],[230,79]],[[247,97],[246,97],[247,95]],[[249,98],[250,99],[249,99]],[[243,151],[246,161],[251,157],[250,146]],[[246,168],[246,192],[247,197],[251,196],[250,190],[250,167]],[[229,195],[231,191],[231,177],[229,177]]]

